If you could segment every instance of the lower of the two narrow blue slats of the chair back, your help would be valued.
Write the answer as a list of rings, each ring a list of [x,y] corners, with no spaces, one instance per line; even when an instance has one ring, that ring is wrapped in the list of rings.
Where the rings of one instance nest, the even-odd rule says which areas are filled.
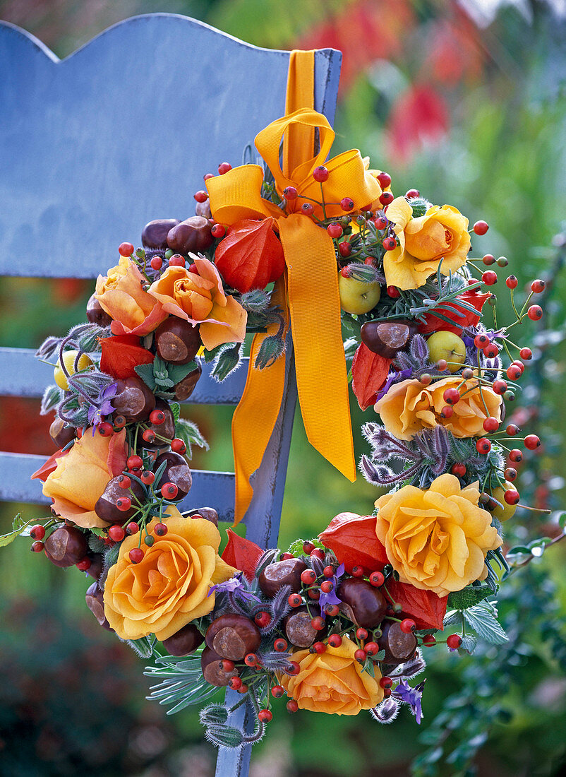
[[[0,452],[0,500],[5,502],[27,502],[30,504],[50,504],[43,497],[39,480],[30,480],[33,472],[39,469],[46,456]],[[180,504],[181,510],[193,507],[214,507],[220,521],[234,520],[234,473],[208,472],[193,469],[193,487],[189,495]]]

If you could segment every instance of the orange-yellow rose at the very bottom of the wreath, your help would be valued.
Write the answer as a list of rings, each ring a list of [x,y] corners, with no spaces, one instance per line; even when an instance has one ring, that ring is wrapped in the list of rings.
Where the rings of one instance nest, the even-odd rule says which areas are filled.
[[[384,698],[379,681],[381,673],[375,665],[375,678],[362,671],[354,658],[357,646],[348,637],[339,647],[328,646],[324,653],[297,650],[293,660],[300,666],[299,674],[283,674],[281,685],[295,699],[300,709],[328,715],[357,715],[361,709],[372,709]]]

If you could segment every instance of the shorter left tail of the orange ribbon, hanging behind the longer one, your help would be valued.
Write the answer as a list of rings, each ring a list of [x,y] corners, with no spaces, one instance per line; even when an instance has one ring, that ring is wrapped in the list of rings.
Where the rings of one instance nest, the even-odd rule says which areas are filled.
[[[284,277],[276,282],[272,303],[283,309],[283,316],[287,323]],[[263,454],[275,428],[283,400],[285,358],[280,357],[264,370],[254,367],[255,357],[263,341],[269,335],[275,334],[278,329],[279,325],[274,323],[268,327],[266,333],[255,335],[249,354],[248,378],[244,393],[232,416],[232,448],[236,476],[234,526],[239,524],[252,501],[253,488],[249,480],[262,463]]]

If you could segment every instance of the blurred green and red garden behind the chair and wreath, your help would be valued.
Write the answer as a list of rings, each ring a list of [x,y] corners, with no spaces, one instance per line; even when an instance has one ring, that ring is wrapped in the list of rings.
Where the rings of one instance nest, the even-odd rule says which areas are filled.
[[[390,172],[395,194],[416,187],[471,223],[488,221],[488,234],[474,236],[473,255],[509,258],[495,287],[504,312],[506,274],[519,278],[519,290],[534,277],[547,280],[513,420],[543,441],[523,461],[522,502],[553,514],[518,510],[515,523],[526,530],[505,528],[509,544],[556,535],[566,505],[564,0],[0,0],[0,19],[60,57],[145,12],[193,16],[262,47],[340,49],[333,152],[358,147],[372,167]],[[123,239],[136,243],[139,235]],[[101,257],[101,270],[114,259]],[[57,261],[57,246],[45,247],[45,260]],[[83,280],[2,279],[0,344],[37,347],[47,334],[63,335],[84,320],[91,293]],[[522,328],[532,339],[529,326]],[[0,398],[2,449],[52,452],[50,419],[38,421],[38,411],[39,402]],[[231,409],[189,405],[184,412],[211,443],[210,451],[196,451],[193,465],[232,469]],[[373,411],[352,405],[352,414],[358,430]],[[356,455],[364,451],[357,434]],[[318,534],[342,510],[370,513],[378,495],[323,461],[297,417],[281,547]],[[37,507],[0,509],[0,533],[18,510],[40,514]],[[32,556],[29,544],[20,539],[0,553],[0,775],[213,774],[214,748],[203,743],[197,711],[167,717],[145,702],[143,661],[99,629],[84,605],[84,576]],[[269,737],[255,747],[252,775],[563,774],[565,562],[566,548],[557,545],[505,584],[505,646],[478,648],[470,658],[442,646],[429,652],[421,726],[407,711],[380,726],[369,715],[290,716],[281,704]]]

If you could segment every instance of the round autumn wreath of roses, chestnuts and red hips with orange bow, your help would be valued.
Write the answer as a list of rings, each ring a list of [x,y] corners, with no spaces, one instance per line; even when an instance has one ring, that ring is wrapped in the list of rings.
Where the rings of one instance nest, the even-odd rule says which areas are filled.
[[[320,152],[305,158],[314,130]],[[222,163],[195,193],[196,215],[150,221],[140,248],[120,245],[119,263],[96,281],[88,322],[37,352],[54,364],[41,412],[56,410],[57,451],[33,475],[52,515],[16,517],[0,538],[29,535],[33,551],[92,577],[86,603],[100,625],[154,660],[148,698],[176,712],[219,687],[238,692],[242,699],[200,713],[207,737],[225,747],[259,740],[282,696],[290,713],[370,710],[381,723],[406,704],[419,723],[425,683],[410,681],[425,669],[423,650],[445,643],[472,653],[477,638],[507,639],[495,594],[509,573],[502,524],[519,503],[523,458],[510,445],[540,445],[504,425],[532,356],[511,336],[524,319],[540,319],[530,302],[543,281],[533,280],[519,309],[510,275],[516,320],[498,324],[490,291],[498,277],[481,263],[508,262],[468,257],[471,233],[488,225],[468,230],[455,207],[417,190],[394,197],[391,177],[357,151],[326,162],[332,138],[321,114],[288,111],[256,138],[265,162]],[[314,320],[321,347],[309,356]],[[206,445],[179,402],[203,360],[224,380],[255,333],[234,425],[237,523],[273,426],[247,459],[238,436],[258,392],[274,423],[290,324],[309,439],[352,476],[351,381],[359,406],[381,420],[363,426],[371,451],[359,469],[387,493],[372,514],[339,514],[286,552],[228,530],[220,556],[214,507],[179,511],[191,446]],[[327,439],[309,384],[321,369],[335,398],[325,407],[327,426],[328,412],[336,420]],[[245,702],[255,714],[249,734],[229,720]]]

